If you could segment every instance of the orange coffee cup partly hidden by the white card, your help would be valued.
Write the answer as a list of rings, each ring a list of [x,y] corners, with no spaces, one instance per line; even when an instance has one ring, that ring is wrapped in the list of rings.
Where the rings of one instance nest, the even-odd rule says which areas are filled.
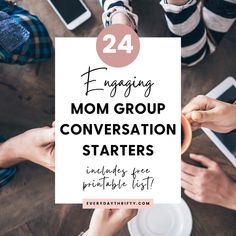
[[[192,129],[188,119],[181,115],[181,155],[186,152],[192,141]]]

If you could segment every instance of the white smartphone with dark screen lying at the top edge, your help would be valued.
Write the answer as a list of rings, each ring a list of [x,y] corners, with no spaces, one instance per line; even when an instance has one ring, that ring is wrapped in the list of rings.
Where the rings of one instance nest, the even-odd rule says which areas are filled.
[[[91,17],[91,12],[81,0],[48,0],[54,11],[73,30]]]

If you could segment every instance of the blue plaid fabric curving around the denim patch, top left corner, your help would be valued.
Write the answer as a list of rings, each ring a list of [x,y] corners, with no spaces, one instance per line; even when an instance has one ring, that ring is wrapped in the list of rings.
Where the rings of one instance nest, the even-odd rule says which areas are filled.
[[[7,13],[11,20],[29,32],[29,38],[15,50],[9,52],[0,48],[0,62],[24,65],[45,61],[52,56],[52,41],[37,16],[5,0],[0,0],[0,11]]]

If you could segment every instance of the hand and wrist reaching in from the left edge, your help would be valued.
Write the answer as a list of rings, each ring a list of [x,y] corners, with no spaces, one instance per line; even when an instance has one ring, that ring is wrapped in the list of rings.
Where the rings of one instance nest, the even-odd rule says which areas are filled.
[[[54,127],[31,129],[1,144],[0,166],[9,167],[29,160],[55,171],[54,147]]]

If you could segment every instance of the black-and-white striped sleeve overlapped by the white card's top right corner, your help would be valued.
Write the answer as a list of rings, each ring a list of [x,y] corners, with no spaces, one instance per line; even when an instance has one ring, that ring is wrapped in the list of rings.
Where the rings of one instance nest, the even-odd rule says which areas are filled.
[[[165,18],[172,37],[181,37],[182,64],[193,66],[209,52],[207,32],[197,8],[197,1],[190,0],[177,6],[162,0]]]

